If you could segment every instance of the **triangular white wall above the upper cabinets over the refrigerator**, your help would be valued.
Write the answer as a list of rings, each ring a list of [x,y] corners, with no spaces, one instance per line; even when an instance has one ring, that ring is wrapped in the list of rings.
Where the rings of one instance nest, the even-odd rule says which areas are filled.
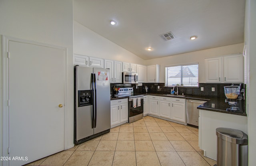
[[[74,53],[116,61],[144,64],[142,58],[120,47],[116,43],[103,38],[76,21],[74,21]]]

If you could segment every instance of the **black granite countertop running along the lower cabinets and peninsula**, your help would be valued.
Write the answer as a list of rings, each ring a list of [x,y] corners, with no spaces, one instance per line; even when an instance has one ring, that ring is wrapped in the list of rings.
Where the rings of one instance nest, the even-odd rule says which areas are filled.
[[[166,94],[159,94],[159,93],[142,93],[142,95],[156,95],[156,96],[165,96],[165,97],[178,97],[178,98],[184,98],[184,99],[202,100],[202,101],[206,101],[206,103],[199,105],[197,107],[198,109],[233,114],[233,115],[247,116],[246,113],[234,113],[234,112],[226,111],[226,109],[230,107],[230,105],[228,105],[228,103],[225,102],[226,98],[193,96],[193,95],[185,95],[185,97],[182,97],[182,96],[166,95]],[[126,98],[126,97],[111,97],[111,100],[122,99],[122,98]]]

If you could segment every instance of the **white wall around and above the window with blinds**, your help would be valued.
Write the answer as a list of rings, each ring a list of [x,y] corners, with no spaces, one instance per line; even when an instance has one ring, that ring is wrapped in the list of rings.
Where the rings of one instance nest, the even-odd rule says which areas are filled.
[[[204,49],[200,51],[194,51],[189,53],[183,53],[178,55],[172,55],[168,57],[156,58],[146,60],[146,65],[159,64],[160,65],[160,83],[165,82],[165,66],[166,65],[178,65],[198,62],[198,81],[199,83],[205,82],[205,69],[204,59],[208,57],[217,57],[221,55],[230,55],[236,53],[242,53],[244,43],[227,45],[223,47],[216,47],[211,49]]]

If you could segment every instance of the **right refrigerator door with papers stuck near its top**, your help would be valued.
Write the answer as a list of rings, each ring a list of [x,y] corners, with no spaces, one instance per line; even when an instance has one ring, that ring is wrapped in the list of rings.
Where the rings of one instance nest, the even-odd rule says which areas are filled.
[[[94,134],[110,129],[110,78],[109,69],[93,68],[95,84],[95,120]]]

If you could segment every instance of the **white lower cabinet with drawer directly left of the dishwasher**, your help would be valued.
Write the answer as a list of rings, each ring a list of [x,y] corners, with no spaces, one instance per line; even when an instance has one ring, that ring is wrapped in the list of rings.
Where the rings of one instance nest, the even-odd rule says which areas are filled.
[[[186,99],[172,97],[171,119],[186,123]]]

